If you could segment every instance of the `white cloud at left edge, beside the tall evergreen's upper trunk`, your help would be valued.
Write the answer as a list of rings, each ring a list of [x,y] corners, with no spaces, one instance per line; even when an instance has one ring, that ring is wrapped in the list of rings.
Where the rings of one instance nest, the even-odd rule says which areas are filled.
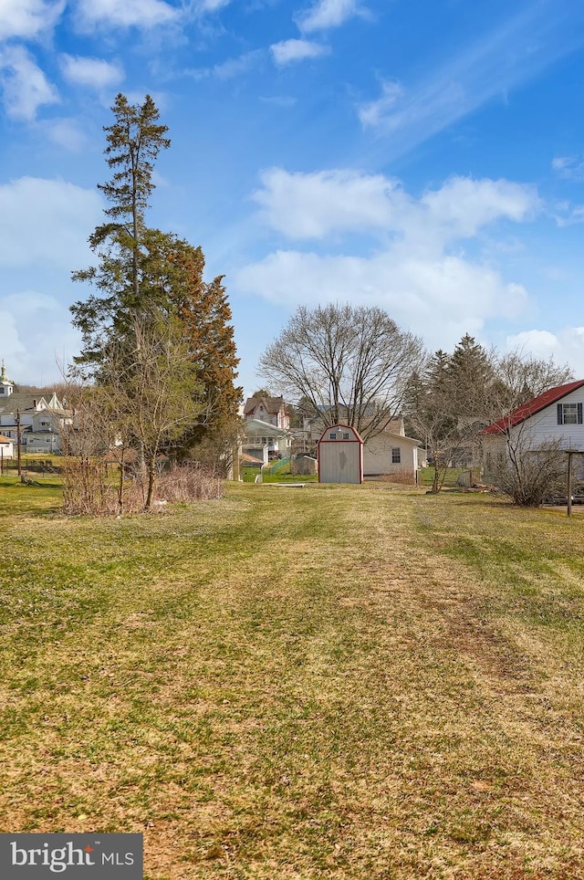
[[[83,267],[102,208],[95,190],[62,180],[22,177],[0,185],[0,267]]]

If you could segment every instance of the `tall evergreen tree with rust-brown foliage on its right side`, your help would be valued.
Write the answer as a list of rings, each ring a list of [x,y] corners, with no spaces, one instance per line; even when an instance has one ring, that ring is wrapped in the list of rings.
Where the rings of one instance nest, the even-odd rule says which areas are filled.
[[[235,387],[239,361],[223,276],[205,282],[200,247],[146,224],[153,162],[170,145],[150,96],[141,105],[130,105],[118,95],[112,112],[114,122],[104,131],[107,162],[114,173],[109,183],[99,185],[110,207],[106,222],[89,237],[97,266],[73,273],[74,280],[97,288],[89,299],[71,307],[73,324],[83,337],[76,361],[82,373],[99,382],[118,382],[111,374],[113,347],[116,371],[125,352],[125,382],[133,377],[132,382],[140,383],[148,364],[136,329],[152,343],[162,326],[176,327],[172,345],[181,351],[184,347],[191,362],[190,372],[185,372],[185,395],[187,386],[196,388],[200,418],[196,425],[193,420],[185,423],[183,436],[174,435],[173,445],[224,436],[235,424],[242,390]],[[168,432],[161,436],[170,442]],[[138,440],[144,453],[147,445]]]

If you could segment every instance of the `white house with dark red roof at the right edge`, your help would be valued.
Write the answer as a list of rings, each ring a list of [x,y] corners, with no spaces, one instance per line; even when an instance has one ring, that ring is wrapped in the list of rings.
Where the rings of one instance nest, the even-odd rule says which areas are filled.
[[[537,451],[549,443],[584,452],[584,379],[549,388],[543,394],[518,406],[512,413],[487,425],[481,432],[485,441],[485,466],[489,456],[504,451],[506,438],[516,448]]]

